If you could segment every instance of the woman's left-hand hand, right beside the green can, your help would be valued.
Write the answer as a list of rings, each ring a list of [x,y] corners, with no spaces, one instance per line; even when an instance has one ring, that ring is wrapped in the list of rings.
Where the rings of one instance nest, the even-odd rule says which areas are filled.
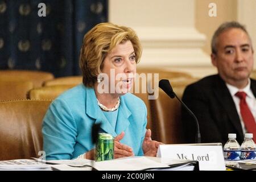
[[[133,149],[131,147],[119,142],[123,138],[123,136],[125,136],[125,132],[122,131],[121,134],[115,137],[114,159],[134,156]]]

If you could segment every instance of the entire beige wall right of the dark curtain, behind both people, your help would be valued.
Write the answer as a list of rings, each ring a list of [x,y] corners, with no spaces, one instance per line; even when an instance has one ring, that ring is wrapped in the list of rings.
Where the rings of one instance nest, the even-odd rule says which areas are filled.
[[[216,17],[209,16],[210,3],[217,5]],[[137,31],[143,45],[140,65],[202,77],[216,73],[210,40],[221,23],[245,24],[256,50],[255,5],[256,0],[109,0],[109,20]]]

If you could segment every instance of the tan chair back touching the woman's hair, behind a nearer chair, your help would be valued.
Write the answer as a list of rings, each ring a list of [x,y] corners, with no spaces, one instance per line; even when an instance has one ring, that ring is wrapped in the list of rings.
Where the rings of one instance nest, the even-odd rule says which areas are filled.
[[[82,82],[82,76],[66,76],[44,82],[44,86],[52,85],[78,85]]]

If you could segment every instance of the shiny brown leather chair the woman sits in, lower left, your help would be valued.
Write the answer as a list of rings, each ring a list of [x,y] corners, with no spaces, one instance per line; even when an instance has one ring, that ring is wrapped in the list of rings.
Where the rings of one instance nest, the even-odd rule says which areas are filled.
[[[0,160],[38,158],[42,121],[51,101],[0,102]]]

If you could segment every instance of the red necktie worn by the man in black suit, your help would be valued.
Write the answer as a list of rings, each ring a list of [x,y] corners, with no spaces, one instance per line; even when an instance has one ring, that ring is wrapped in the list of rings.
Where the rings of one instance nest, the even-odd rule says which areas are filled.
[[[246,93],[237,92],[236,96],[240,98],[240,113],[243,118],[243,122],[245,123],[245,127],[248,133],[253,134],[253,140],[254,142],[256,142],[256,123],[253,114],[251,114],[251,111],[248,105],[246,104]]]

